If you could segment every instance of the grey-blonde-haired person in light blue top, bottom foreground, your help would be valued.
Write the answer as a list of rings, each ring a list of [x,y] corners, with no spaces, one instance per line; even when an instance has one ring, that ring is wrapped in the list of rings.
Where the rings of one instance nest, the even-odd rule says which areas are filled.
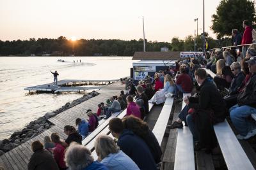
[[[135,162],[122,152],[115,144],[115,141],[109,136],[98,136],[94,147],[98,155],[98,160],[108,167],[109,170],[140,170]]]

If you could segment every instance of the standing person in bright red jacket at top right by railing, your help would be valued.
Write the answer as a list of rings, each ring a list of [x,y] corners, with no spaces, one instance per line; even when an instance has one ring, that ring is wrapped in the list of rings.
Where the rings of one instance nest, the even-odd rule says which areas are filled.
[[[248,20],[244,20],[243,22],[244,34],[242,39],[242,45],[251,44],[252,43],[252,27],[250,26]],[[248,50],[248,46],[243,46],[242,48],[242,56],[245,57],[246,51]]]

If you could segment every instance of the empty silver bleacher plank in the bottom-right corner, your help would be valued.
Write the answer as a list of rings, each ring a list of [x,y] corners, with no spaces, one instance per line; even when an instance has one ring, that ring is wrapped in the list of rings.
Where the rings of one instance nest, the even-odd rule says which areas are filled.
[[[214,125],[214,131],[228,169],[254,169],[227,120]]]

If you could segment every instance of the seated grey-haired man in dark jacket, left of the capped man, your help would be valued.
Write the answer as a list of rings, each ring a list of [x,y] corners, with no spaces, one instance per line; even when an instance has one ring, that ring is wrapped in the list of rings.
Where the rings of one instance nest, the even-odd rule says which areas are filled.
[[[234,74],[234,78],[231,81],[231,85],[229,87],[229,92],[227,96],[224,96],[224,100],[227,104],[227,108],[229,109],[231,106],[237,104],[237,96],[239,94],[239,89],[243,84],[244,74],[241,71],[241,66],[239,62],[233,62],[230,66],[232,73]]]

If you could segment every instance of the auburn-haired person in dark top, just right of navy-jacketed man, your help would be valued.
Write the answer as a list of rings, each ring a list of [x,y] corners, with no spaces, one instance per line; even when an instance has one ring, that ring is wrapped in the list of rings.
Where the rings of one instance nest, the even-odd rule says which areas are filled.
[[[152,153],[154,160],[156,163],[161,162],[161,155],[163,152],[161,151],[161,147],[156,139],[156,136],[152,131],[148,128],[146,122],[143,122],[140,118],[136,118],[133,116],[122,118],[122,122],[124,125],[124,129],[129,129],[134,132],[137,136],[140,136],[145,143],[147,143],[150,152]]]

